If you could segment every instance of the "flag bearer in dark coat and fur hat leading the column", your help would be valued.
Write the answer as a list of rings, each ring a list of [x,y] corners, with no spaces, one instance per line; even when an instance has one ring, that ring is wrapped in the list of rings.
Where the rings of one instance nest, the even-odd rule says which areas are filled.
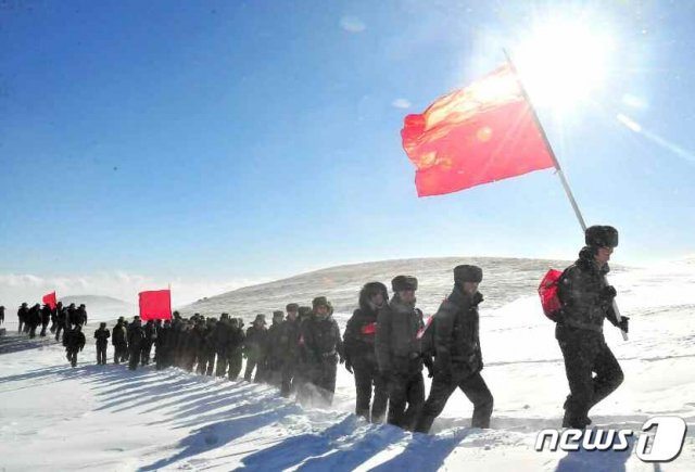
[[[574,429],[591,424],[589,410],[624,379],[606,344],[604,320],[628,332],[628,317],[618,319],[614,309],[616,289],[606,282],[608,260],[618,246],[618,231],[610,226],[593,226],[586,229],[584,240],[586,245],[579,259],[565,269],[558,281],[561,309],[555,327],[570,390],[564,405],[563,428]]]

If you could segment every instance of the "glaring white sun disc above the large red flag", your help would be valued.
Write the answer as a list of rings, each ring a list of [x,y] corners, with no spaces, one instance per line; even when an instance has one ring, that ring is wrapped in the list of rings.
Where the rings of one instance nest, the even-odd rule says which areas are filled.
[[[612,39],[580,21],[548,21],[514,49],[513,60],[534,104],[567,111],[606,77]]]

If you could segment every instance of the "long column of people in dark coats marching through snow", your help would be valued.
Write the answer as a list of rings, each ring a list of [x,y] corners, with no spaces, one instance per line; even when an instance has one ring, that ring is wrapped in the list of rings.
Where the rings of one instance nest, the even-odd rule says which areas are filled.
[[[606,282],[608,260],[617,246],[615,228],[586,229],[579,258],[557,282],[560,308],[555,335],[570,391],[563,405],[563,428],[591,424],[590,409],[624,378],[603,334],[605,319],[628,331],[628,318],[619,317],[614,308],[616,290]],[[417,278],[394,277],[391,297],[383,283],[365,283],[342,336],[326,296],[315,297],[311,307],[290,303],[286,311],[273,311],[269,328],[265,315],[258,314],[245,332],[243,320],[227,312],[217,320],[200,314],[186,319],[174,311],[170,320],[148,320],[144,327],[138,316],[130,323],[121,317],[113,331],[105,322],[94,331],[97,363],[106,363],[110,339],[113,362],[128,362],[131,370],[150,363],[154,346],[157,370],[178,367],[235,381],[245,358],[243,380],[267,383],[283,397],[295,394],[298,401],[317,406],[332,404],[338,365],[344,363],[354,375],[355,414],[367,421],[386,420],[404,430],[429,433],[459,388],[472,403],[471,426],[485,429],[494,399],[481,374],[479,306],[483,295],[479,285],[483,271],[459,265],[453,279],[451,293],[427,323],[416,307]],[[17,318],[20,332],[29,337],[36,336],[39,326],[39,336],[46,336],[50,323],[50,332],[65,346],[67,360],[77,365],[86,343],[84,304],[29,307],[23,303]],[[0,306],[0,323],[3,321],[4,307]],[[424,368],[432,379],[427,399]]]

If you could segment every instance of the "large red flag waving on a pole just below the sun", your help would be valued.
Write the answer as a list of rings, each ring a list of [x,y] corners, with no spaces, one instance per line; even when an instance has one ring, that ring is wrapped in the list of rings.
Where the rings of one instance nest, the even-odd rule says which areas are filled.
[[[408,115],[403,149],[418,196],[441,195],[554,166],[516,73],[507,64]]]

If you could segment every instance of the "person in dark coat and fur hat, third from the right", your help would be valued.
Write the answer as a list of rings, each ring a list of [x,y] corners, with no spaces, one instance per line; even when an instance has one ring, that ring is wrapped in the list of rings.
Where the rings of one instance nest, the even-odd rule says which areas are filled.
[[[417,279],[397,276],[393,296],[377,317],[375,340],[379,371],[389,382],[388,422],[410,431],[425,403],[422,352],[418,332],[425,328],[415,307]]]

